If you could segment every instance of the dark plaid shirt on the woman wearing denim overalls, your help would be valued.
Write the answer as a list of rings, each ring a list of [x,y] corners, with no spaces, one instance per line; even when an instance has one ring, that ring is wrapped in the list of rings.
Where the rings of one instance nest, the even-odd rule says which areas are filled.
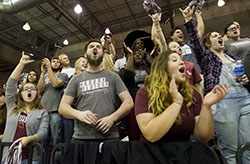
[[[222,68],[221,59],[212,51],[206,49],[200,40],[196,29],[194,19],[185,23],[187,33],[190,39],[190,45],[193,48],[198,64],[204,73],[204,92],[205,95],[210,92],[215,85],[219,84]],[[239,58],[230,54],[231,58],[238,60]]]

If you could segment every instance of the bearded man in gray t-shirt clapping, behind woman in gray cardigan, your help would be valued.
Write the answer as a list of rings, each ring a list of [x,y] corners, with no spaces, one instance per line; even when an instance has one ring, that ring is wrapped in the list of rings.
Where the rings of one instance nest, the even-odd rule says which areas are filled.
[[[50,131],[52,144],[58,140],[60,115],[58,106],[61,100],[61,90],[65,81],[68,79],[67,74],[61,73],[61,64],[58,58],[53,58],[50,62],[48,58],[42,60],[41,76],[37,87],[42,94],[41,105],[48,109],[50,114]]]

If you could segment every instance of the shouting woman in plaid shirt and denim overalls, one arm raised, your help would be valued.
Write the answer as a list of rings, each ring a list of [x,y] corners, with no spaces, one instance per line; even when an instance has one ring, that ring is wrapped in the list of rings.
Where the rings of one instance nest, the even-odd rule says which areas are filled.
[[[205,95],[218,84],[226,84],[228,87],[228,94],[211,108],[220,152],[227,164],[235,164],[238,147],[250,142],[249,79],[245,74],[238,74],[239,78],[236,78],[233,70],[238,66],[239,57],[224,52],[224,40],[220,33],[209,32],[205,35],[203,44],[192,17],[194,8],[187,7],[180,11],[186,22],[184,25],[190,38],[191,47],[204,72]],[[236,25],[234,26],[236,28]],[[249,152],[243,155],[243,161],[250,163]]]

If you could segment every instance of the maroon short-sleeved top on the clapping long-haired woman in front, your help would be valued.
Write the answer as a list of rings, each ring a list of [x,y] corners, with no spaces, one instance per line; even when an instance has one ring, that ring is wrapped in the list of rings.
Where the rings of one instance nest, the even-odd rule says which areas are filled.
[[[194,91],[193,94],[194,103],[188,108],[186,108],[187,103],[184,101],[181,107],[181,118],[182,124],[177,126],[173,124],[170,130],[163,136],[158,142],[187,142],[190,141],[190,136],[193,134],[195,125],[195,116],[198,116],[201,111],[202,99],[198,92]],[[141,113],[148,113],[148,92],[145,87],[139,89],[136,94],[135,100],[135,115]],[[140,136],[141,141],[147,141],[143,134]]]

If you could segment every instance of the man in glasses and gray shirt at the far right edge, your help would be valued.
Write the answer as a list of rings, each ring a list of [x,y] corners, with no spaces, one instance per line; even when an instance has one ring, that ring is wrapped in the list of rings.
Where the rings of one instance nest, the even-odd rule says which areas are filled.
[[[225,52],[240,57],[245,73],[250,78],[250,39],[241,38],[241,27],[238,22],[231,22],[224,28],[228,40],[225,42]]]

